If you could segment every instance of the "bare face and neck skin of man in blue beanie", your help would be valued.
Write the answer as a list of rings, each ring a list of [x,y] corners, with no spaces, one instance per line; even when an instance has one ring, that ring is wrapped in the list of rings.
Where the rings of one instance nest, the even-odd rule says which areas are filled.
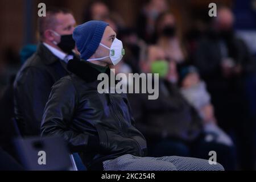
[[[104,31],[104,34],[102,36],[101,43],[110,48],[115,37],[116,37],[116,34],[115,34],[114,30],[110,26],[107,26]],[[102,46],[98,46],[98,48],[97,48],[96,52],[94,53],[94,55],[92,56],[92,58],[99,58],[99,57],[105,57],[105,56],[109,56],[109,49],[102,47]],[[103,59],[103,60],[99,60],[97,62],[100,63],[101,65],[111,65],[112,64],[110,57]]]

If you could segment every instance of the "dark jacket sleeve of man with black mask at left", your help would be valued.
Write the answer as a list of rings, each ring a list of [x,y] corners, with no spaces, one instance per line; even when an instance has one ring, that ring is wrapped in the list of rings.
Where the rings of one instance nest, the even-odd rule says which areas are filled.
[[[44,106],[51,92],[51,77],[46,71],[29,68],[20,73],[14,84],[15,107],[21,117],[24,135],[39,135]],[[17,109],[15,108],[15,110]]]

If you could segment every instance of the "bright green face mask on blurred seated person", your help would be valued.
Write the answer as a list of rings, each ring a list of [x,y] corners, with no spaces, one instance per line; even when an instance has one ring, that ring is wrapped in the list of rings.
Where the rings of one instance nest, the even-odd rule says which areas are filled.
[[[168,73],[168,62],[165,60],[156,60],[151,64],[151,72],[158,73],[160,78],[164,78]]]

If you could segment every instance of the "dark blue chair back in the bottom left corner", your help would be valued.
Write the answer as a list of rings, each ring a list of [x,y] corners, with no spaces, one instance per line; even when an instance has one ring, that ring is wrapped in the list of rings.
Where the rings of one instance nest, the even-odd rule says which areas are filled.
[[[16,151],[27,170],[77,170],[64,140],[60,137],[15,139]]]

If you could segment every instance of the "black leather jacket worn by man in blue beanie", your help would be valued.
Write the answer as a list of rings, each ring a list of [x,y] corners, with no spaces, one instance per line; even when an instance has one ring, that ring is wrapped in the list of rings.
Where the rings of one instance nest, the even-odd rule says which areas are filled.
[[[98,93],[100,72],[85,61],[69,61],[68,69],[75,74],[53,85],[42,135],[63,137],[89,169],[102,169],[104,160],[125,154],[146,155],[146,140],[134,127],[126,94]]]

